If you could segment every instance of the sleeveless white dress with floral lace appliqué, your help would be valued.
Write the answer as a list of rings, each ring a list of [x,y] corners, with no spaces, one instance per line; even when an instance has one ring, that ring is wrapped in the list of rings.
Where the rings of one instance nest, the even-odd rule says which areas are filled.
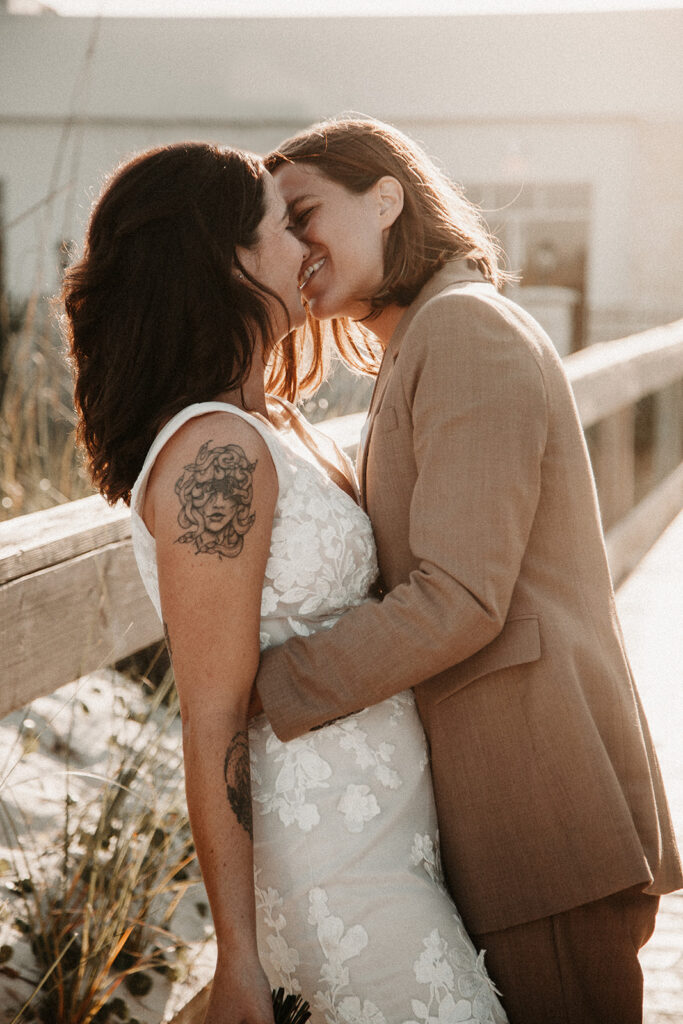
[[[174,417],[133,488],[135,556],[160,616],[155,543],[139,515],[147,476],[182,423],[216,411],[251,423],[278,472],[261,647],[329,628],[369,599],[370,520],[296,431],[219,402]],[[259,954],[271,985],[301,992],[312,1024],[506,1021],[444,889],[412,692],[287,743],[260,716],[249,739]]]

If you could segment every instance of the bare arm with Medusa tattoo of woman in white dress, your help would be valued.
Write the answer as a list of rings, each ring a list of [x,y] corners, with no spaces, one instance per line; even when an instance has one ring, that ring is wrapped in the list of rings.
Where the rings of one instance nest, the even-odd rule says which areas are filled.
[[[187,806],[216,929],[207,1024],[271,1024],[256,950],[247,713],[278,493],[262,438],[224,414],[183,427],[145,501],[182,717]]]

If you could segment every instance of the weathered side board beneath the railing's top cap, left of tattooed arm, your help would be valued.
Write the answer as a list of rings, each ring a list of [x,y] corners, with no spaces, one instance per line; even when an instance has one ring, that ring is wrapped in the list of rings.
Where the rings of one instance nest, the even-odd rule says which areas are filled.
[[[0,717],[162,638],[131,541],[0,586]]]

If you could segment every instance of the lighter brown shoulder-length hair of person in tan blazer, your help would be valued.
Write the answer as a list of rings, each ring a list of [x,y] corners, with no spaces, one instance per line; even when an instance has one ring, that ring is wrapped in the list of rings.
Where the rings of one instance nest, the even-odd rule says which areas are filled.
[[[373,314],[386,306],[410,305],[449,260],[471,260],[497,288],[507,279],[500,266],[500,246],[478,209],[397,128],[365,117],[334,118],[299,132],[265,158],[269,171],[297,163],[316,168],[356,194],[367,191],[385,175],[403,187],[403,209],[389,228],[384,278],[371,299],[366,323],[372,324]],[[337,319],[329,322],[329,327],[344,361],[376,372],[377,348],[361,326],[358,331],[358,325]],[[318,339],[319,346],[321,328],[310,316],[305,330]]]

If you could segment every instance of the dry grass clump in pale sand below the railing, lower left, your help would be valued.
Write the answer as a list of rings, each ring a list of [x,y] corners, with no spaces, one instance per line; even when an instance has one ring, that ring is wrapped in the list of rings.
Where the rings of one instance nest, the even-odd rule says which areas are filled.
[[[167,737],[176,715],[173,702],[163,706],[170,685],[164,681],[144,714],[126,715],[113,771],[62,772],[63,814],[60,835],[48,844],[50,869],[45,851],[22,846],[17,810],[12,814],[0,801],[0,824],[16,851],[13,898],[24,908],[24,941],[42,974],[27,1006],[43,1024],[103,1021],[122,985],[142,992],[153,983],[151,970],[172,977],[173,955],[186,944],[168,925],[200,877],[193,871],[177,722],[174,738]],[[31,779],[28,771],[24,776]],[[74,805],[76,815],[70,799],[76,783],[92,793],[102,778],[94,799]],[[26,835],[30,820],[25,824]]]

